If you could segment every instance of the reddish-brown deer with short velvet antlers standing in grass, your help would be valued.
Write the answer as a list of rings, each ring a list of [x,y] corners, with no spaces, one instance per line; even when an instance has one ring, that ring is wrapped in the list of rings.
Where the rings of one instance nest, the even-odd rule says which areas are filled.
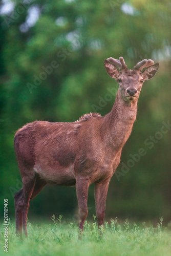
[[[29,202],[48,183],[76,187],[79,234],[88,216],[88,189],[94,183],[98,227],[104,226],[109,183],[132,132],[142,84],[156,74],[159,63],[144,59],[129,70],[123,57],[110,57],[104,66],[119,84],[110,113],[85,114],[75,122],[34,121],[16,132],[14,148],[23,183],[14,196],[17,234],[24,231],[27,236]]]

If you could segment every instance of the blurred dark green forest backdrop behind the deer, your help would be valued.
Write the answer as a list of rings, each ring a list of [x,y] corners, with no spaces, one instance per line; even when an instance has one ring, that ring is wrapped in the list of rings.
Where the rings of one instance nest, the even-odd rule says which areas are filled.
[[[90,112],[109,113],[118,86],[103,59],[123,56],[129,69],[144,58],[160,66],[143,85],[137,120],[110,183],[106,219],[170,221],[170,1],[3,0],[0,24],[1,220],[4,198],[14,218],[13,196],[22,187],[13,149],[17,129],[34,120],[72,122]],[[146,154],[138,157],[140,148]],[[88,207],[91,219],[94,185]],[[47,185],[30,202],[29,219],[53,214],[77,219],[75,188]]]

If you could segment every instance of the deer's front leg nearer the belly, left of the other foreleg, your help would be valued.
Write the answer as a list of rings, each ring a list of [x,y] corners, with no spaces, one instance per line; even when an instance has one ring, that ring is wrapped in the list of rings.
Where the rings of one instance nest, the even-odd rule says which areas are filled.
[[[76,179],[76,192],[78,199],[78,210],[79,210],[79,231],[83,230],[84,221],[88,215],[87,199],[88,199],[89,179],[78,178]]]

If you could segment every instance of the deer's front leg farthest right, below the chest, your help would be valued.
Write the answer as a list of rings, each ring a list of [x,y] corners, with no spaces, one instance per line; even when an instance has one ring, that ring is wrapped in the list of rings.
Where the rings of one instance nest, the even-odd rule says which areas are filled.
[[[95,183],[95,203],[98,226],[104,225],[105,202],[108,193],[110,179]]]

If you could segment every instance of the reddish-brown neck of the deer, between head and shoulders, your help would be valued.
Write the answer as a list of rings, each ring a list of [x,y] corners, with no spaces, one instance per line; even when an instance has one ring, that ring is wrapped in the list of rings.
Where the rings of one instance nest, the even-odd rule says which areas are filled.
[[[112,111],[104,116],[101,131],[106,146],[121,150],[129,138],[137,115],[137,101],[126,102],[118,90]]]

